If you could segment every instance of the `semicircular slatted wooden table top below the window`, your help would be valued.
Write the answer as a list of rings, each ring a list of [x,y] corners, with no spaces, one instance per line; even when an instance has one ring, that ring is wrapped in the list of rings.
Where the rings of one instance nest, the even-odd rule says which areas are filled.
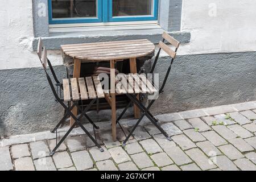
[[[155,51],[147,39],[62,45],[65,55],[83,61],[123,60],[143,57]]]

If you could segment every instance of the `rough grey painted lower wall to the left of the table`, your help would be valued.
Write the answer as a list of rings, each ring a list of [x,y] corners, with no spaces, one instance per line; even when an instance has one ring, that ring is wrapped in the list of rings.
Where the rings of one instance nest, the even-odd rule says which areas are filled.
[[[65,67],[55,67],[65,76]],[[0,71],[0,136],[49,130],[63,110],[53,100],[43,67]]]

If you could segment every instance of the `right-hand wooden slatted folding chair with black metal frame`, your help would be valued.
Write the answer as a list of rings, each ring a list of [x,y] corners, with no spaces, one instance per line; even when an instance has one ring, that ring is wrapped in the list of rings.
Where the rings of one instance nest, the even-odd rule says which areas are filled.
[[[145,107],[141,103],[141,101],[139,101],[138,98],[136,97],[138,94],[141,94],[141,93],[147,93],[147,94],[163,93],[164,86],[166,85],[167,78],[170,75],[172,64],[174,63],[174,59],[176,57],[176,52],[177,52],[177,49],[179,48],[180,43],[176,39],[174,39],[170,35],[168,35],[166,32],[164,32],[162,36],[163,36],[163,41],[159,42],[159,47],[160,48],[159,48],[159,51],[158,51],[158,53],[155,57],[154,64],[152,65],[152,68],[151,68],[151,71],[150,71],[150,73],[154,72],[156,63],[159,59],[160,52],[163,49],[163,51],[166,52],[171,57],[171,59],[170,59],[170,66],[167,69],[166,76],[164,77],[164,81],[163,81],[162,86],[160,88],[158,88],[158,86],[156,86],[154,84],[154,82],[151,81],[150,79],[148,79],[145,75],[121,75],[121,76],[119,76],[119,80],[121,81],[121,84],[122,84],[121,88],[123,88],[123,89],[120,89],[120,90],[117,90],[117,91],[126,93],[127,97],[130,98],[130,103],[126,106],[126,108],[123,110],[121,115],[118,117],[117,123],[120,125],[120,123],[119,123],[120,119],[123,117],[123,114],[125,114],[126,110],[132,104],[137,105],[138,108],[143,113],[141,115],[141,118],[138,119],[137,123],[135,124],[135,126],[131,130],[130,134],[124,140],[123,145],[122,145],[123,147],[125,146],[127,140],[129,140],[129,138],[133,134],[134,130],[138,127],[139,123],[142,121],[142,119],[145,115],[159,129],[159,131],[164,135],[164,137],[166,137],[168,140],[171,140],[171,138],[166,133],[166,131],[164,131],[162,129],[162,127],[160,127],[158,125],[158,123],[157,123],[158,119],[156,119],[149,111],[150,107],[154,104],[155,100],[152,100],[148,104],[148,106]],[[170,47],[167,46],[166,43],[164,43],[165,40],[168,43],[170,43],[172,46],[175,47],[175,51],[173,51]],[[122,128],[121,125],[120,125],[120,127]]]

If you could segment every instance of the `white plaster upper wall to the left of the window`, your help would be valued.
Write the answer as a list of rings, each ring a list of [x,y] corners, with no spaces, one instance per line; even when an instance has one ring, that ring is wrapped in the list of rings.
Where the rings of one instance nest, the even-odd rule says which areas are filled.
[[[1,0],[0,20],[0,69],[40,67],[32,51],[32,0]],[[49,53],[53,65],[61,64],[59,51]]]

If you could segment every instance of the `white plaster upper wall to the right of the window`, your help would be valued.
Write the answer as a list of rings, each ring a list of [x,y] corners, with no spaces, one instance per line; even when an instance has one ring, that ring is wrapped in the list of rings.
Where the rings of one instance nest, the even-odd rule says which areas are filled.
[[[179,55],[256,51],[256,1],[183,0],[181,27],[191,42]]]

